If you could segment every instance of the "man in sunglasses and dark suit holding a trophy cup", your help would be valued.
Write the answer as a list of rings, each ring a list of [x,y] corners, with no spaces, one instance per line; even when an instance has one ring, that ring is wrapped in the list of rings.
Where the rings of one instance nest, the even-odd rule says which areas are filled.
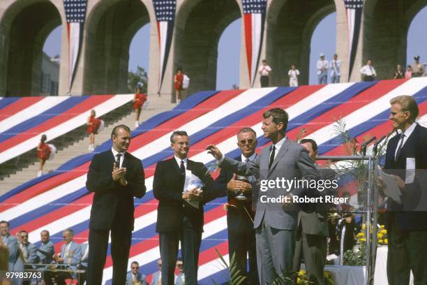
[[[237,133],[237,146],[241,155],[235,157],[237,161],[255,160],[257,154],[257,134],[253,129],[244,128]],[[234,173],[221,169],[220,175],[215,180],[216,191],[227,195],[227,231],[228,252],[230,258],[234,254],[234,261],[241,275],[248,277],[247,284],[259,284],[257,272],[257,251],[255,248],[255,230],[252,209],[252,187],[248,182],[236,180]],[[245,200],[239,199],[244,194]],[[236,198],[237,197],[237,198]],[[249,270],[246,270],[247,256],[249,257]]]

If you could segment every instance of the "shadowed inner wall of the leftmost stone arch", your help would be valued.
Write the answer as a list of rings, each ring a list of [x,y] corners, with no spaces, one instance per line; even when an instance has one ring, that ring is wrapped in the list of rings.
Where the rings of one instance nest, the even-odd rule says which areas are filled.
[[[1,3],[0,96],[40,94],[43,44],[63,19],[56,2]]]

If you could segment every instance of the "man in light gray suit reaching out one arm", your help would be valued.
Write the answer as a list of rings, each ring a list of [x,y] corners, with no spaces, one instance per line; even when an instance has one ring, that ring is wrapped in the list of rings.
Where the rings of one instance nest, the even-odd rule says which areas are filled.
[[[287,112],[273,108],[264,112],[262,117],[264,138],[269,138],[273,145],[264,147],[255,161],[235,161],[223,156],[215,145],[209,145],[207,149],[218,159],[221,168],[260,179],[254,228],[260,284],[267,284],[292,272],[298,214],[296,205],[292,203],[293,196],[310,196],[315,191],[279,182],[302,179],[310,182],[320,176],[307,150],[285,136]]]

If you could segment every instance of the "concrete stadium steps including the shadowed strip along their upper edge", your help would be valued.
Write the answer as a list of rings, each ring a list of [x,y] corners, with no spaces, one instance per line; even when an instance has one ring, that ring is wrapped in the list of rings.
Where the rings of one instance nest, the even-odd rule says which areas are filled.
[[[162,100],[163,99],[163,100]],[[175,104],[165,103],[164,98],[150,96],[150,103],[147,109],[142,110],[140,122],[144,122],[149,117],[153,117],[160,112],[171,110]],[[95,145],[101,145],[106,140],[110,140],[112,126],[117,124],[126,124],[130,129],[135,129],[135,113],[133,112],[133,103],[130,102],[121,108],[114,110],[103,117],[105,128],[95,136]],[[89,136],[87,136],[87,126],[82,126],[74,131],[67,133],[53,141],[50,141],[57,147],[58,152],[52,161],[46,161],[43,173],[49,173],[56,170],[63,163],[75,158],[81,154],[89,152]],[[36,159],[36,150],[18,157],[17,161],[7,161],[1,164],[0,170],[0,195],[7,193],[11,189],[32,180],[36,177],[38,171],[38,160]],[[8,171],[8,173],[5,173]]]

